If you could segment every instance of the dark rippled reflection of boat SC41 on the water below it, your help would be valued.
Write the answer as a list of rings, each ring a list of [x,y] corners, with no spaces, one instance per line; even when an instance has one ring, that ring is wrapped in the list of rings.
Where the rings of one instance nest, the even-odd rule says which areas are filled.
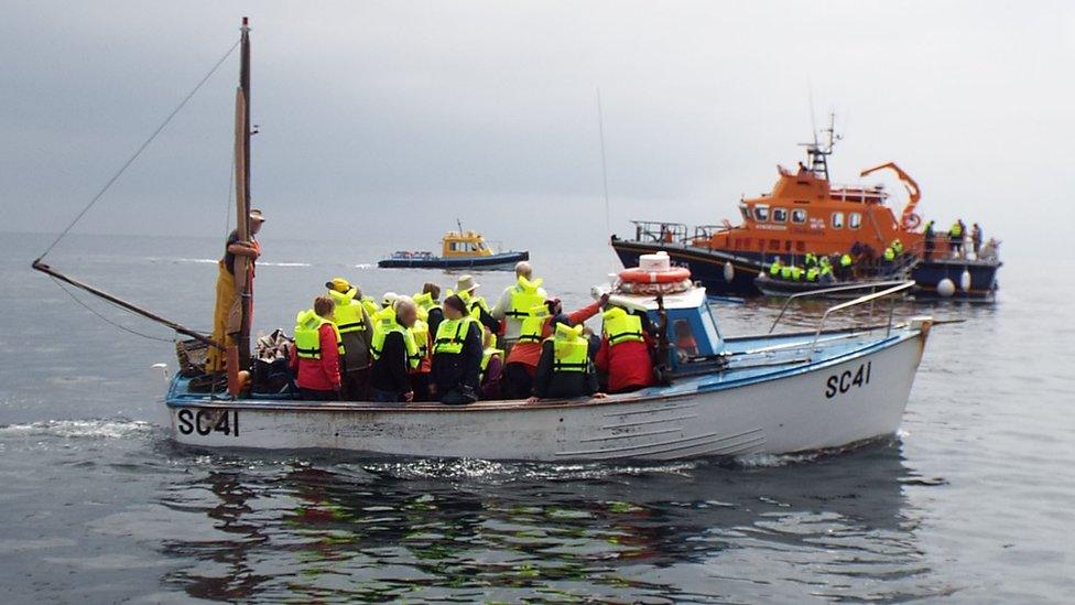
[[[759,464],[760,463],[760,464]],[[228,465],[234,468],[228,471]],[[161,503],[165,583],[202,598],[837,598],[930,594],[899,443],[729,467],[215,458]],[[221,468],[225,468],[221,471]],[[879,594],[880,580],[884,591]]]

